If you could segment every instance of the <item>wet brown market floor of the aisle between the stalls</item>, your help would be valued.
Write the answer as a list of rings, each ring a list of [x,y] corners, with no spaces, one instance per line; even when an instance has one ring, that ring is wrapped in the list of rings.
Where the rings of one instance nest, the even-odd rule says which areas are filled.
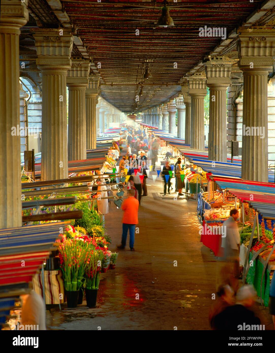
[[[121,241],[121,209],[113,202],[106,215],[111,251],[119,250],[115,270],[101,274],[97,307],[47,311],[50,330],[209,330],[208,313],[219,263],[200,243],[197,201],[160,197],[163,182],[147,179],[135,251],[116,249]],[[174,190],[173,190],[174,191]],[[175,197],[175,198],[173,198]],[[128,236],[129,237],[129,236]],[[265,329],[268,309],[258,306]]]

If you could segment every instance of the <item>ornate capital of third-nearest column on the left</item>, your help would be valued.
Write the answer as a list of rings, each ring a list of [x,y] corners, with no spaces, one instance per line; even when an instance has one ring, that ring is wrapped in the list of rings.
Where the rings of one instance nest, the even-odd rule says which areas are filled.
[[[67,76],[67,86],[86,88],[89,83],[90,65],[88,60],[72,60],[72,66]]]

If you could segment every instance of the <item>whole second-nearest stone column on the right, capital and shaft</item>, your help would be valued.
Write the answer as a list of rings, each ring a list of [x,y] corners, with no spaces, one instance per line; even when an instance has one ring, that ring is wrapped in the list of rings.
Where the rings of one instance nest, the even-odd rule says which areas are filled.
[[[211,161],[227,162],[226,91],[230,85],[231,60],[227,56],[213,56],[205,64],[209,87],[209,135],[208,158]]]

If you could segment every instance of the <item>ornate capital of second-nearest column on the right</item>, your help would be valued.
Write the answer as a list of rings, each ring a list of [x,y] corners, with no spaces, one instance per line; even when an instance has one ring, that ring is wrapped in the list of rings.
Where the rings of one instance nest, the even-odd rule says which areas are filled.
[[[231,66],[233,60],[227,56],[212,56],[205,63],[207,86],[214,89],[224,89],[230,85]]]

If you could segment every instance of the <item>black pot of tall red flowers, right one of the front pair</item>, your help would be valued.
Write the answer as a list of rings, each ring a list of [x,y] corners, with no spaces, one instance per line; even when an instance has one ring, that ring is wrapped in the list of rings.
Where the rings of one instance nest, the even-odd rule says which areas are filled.
[[[103,261],[103,252],[90,244],[89,255],[87,258],[87,265],[85,270],[85,294],[87,306],[96,306],[97,291],[100,281],[100,270]]]

